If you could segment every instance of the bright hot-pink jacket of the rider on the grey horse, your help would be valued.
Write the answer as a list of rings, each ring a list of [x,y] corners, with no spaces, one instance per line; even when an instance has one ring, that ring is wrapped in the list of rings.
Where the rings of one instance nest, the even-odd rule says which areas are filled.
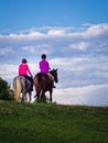
[[[29,66],[28,66],[26,64],[21,64],[21,65],[19,66],[19,75],[20,75],[20,76],[21,76],[21,75],[28,75],[28,73],[29,73],[29,75],[32,76],[32,73],[31,73]]]

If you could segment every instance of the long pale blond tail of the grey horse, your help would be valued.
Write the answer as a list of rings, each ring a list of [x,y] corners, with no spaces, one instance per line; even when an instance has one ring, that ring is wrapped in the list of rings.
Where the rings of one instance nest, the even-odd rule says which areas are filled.
[[[20,100],[20,94],[21,94],[21,82],[20,82],[20,78],[15,78],[15,94],[14,94],[14,99],[17,101]]]

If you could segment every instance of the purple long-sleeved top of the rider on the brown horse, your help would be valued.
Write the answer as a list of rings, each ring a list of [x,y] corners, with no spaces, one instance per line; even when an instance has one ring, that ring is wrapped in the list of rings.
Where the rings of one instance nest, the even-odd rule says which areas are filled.
[[[40,65],[40,72],[41,73],[48,73],[50,65],[48,65],[47,61],[42,59],[39,65]]]

